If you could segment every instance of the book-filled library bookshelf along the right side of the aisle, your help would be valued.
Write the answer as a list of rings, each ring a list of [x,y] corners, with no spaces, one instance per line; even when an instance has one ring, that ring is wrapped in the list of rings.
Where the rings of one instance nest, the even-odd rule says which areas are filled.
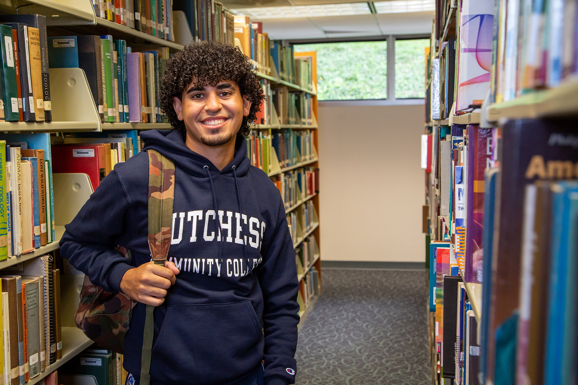
[[[463,38],[460,36],[460,28],[466,28],[463,27],[463,17],[472,10],[469,8],[466,13],[462,14],[463,7],[467,3],[468,1],[464,0],[458,5],[451,0],[442,0],[442,5],[438,7],[434,18],[426,69],[429,78],[425,82],[427,89],[434,83],[437,75],[439,76],[438,90],[455,91],[451,94],[453,99],[444,100],[443,91],[438,91],[438,95],[433,95],[432,92],[431,96],[427,96],[426,104],[429,102],[431,106],[435,106],[436,103],[429,98],[438,99],[439,117],[445,119],[429,118],[429,116],[438,117],[438,111],[433,114],[432,107],[431,114],[428,115],[430,112],[428,109],[425,134],[431,135],[431,138],[422,138],[422,143],[425,139],[432,140],[431,146],[429,142],[425,146],[427,153],[424,152],[424,155],[431,156],[427,158],[431,159],[431,164],[425,162],[427,186],[424,233],[426,233],[427,255],[430,261],[428,269],[430,271],[438,269],[437,274],[430,276],[438,281],[432,282],[432,278],[428,278],[432,384],[453,384],[462,383],[462,381],[463,383],[469,381],[469,384],[485,382],[490,385],[524,382],[554,383],[556,382],[554,378],[565,378],[564,376],[568,373],[575,372],[575,368],[560,364],[566,361],[575,362],[576,359],[576,353],[564,350],[569,343],[573,343],[566,341],[567,336],[576,335],[575,312],[573,308],[557,306],[552,299],[575,303],[572,297],[575,293],[575,286],[572,286],[573,289],[568,289],[560,284],[562,279],[567,279],[575,285],[570,274],[567,276],[565,274],[566,271],[575,269],[576,250],[566,249],[565,245],[571,244],[571,241],[576,239],[576,233],[565,232],[563,227],[566,226],[564,215],[568,215],[568,212],[570,215],[575,215],[575,211],[571,211],[564,205],[554,207],[554,199],[547,193],[542,200],[536,201],[532,200],[531,194],[532,191],[542,188],[546,192],[555,192],[558,194],[556,197],[566,199],[566,196],[571,196],[573,197],[571,199],[575,199],[575,192],[572,190],[574,187],[568,186],[573,186],[578,174],[552,173],[547,175],[547,180],[543,180],[531,174],[526,176],[525,171],[529,159],[563,159],[569,169],[578,159],[575,149],[568,150],[571,145],[557,145],[555,140],[551,140],[556,137],[565,137],[570,143],[575,138],[576,117],[578,117],[576,66],[574,63],[569,72],[566,68],[564,72],[560,70],[557,73],[556,68],[548,67],[550,62],[533,63],[529,56],[525,56],[525,53],[531,51],[529,47],[533,44],[528,36],[538,36],[536,39],[545,41],[545,36],[549,36],[548,34],[558,25],[550,24],[549,27],[539,29],[539,31],[532,29],[537,27],[530,23],[528,18],[542,17],[543,20],[553,23],[551,14],[531,14],[530,16],[524,13],[525,10],[518,14],[520,9],[516,8],[515,1],[499,0],[493,12],[492,10],[480,11],[480,13],[493,14],[494,21],[499,20],[494,24],[492,48],[488,49],[488,52],[492,52],[492,58],[495,59],[491,69],[488,70],[490,72],[488,75],[491,75],[489,89],[485,98],[484,95],[476,95],[472,98],[476,99],[476,102],[470,104],[470,108],[464,109],[464,111],[470,109],[473,111],[456,114],[457,89],[460,84],[457,80],[459,70],[455,71],[455,77],[453,77],[454,68],[452,72],[446,69],[445,73],[440,70],[439,74],[435,74],[432,63],[433,60],[443,60],[444,49],[450,44],[453,46],[451,41],[455,39],[455,68],[466,68],[468,63],[462,62],[458,54],[463,55],[464,58],[467,57],[464,52],[467,53],[466,48],[469,48],[466,45],[467,42],[460,41],[460,37]],[[510,18],[512,14],[514,16]],[[520,16],[519,23],[518,16]],[[458,22],[460,17],[462,17],[461,23]],[[506,19],[509,20],[507,23],[512,20],[516,20],[516,23],[506,23],[506,27],[504,25]],[[564,28],[575,27],[574,18],[564,19]],[[554,36],[553,40],[548,40],[548,47],[542,51],[544,56],[551,55],[551,58],[556,58],[557,52],[560,55],[568,55],[570,51],[568,51],[567,44],[574,44],[578,39],[575,33],[550,35],[550,38],[551,36]],[[486,37],[477,36],[478,39]],[[514,63],[516,65],[513,65]],[[442,68],[441,65],[439,68]],[[542,78],[540,76],[546,72],[544,68],[550,72]],[[462,76],[461,72],[459,76]],[[479,140],[476,135],[480,132],[487,137]],[[472,133],[475,134],[472,135]],[[471,155],[471,158],[465,156],[464,150],[468,156]],[[483,159],[481,162],[483,166],[476,168],[476,158]],[[476,172],[479,172],[479,175],[475,175]],[[456,175],[460,175],[460,182],[457,182]],[[518,175],[524,177],[514,181]],[[458,189],[458,184],[463,184],[465,187]],[[459,198],[455,198],[458,191],[465,196],[465,200],[460,202]],[[470,197],[475,196],[476,193],[483,193],[483,199],[470,200]],[[445,214],[441,210],[444,198],[446,198]],[[480,201],[481,204],[479,204]],[[518,203],[520,207],[517,206]],[[459,204],[462,205],[461,210],[466,213],[462,228],[460,228],[461,225],[456,225],[456,218],[459,216],[455,213]],[[453,209],[455,212],[451,211]],[[476,231],[480,227],[473,225],[473,220],[468,225],[468,216],[471,215],[470,218],[473,218],[474,212],[476,215],[474,220],[479,224],[483,222],[477,234]],[[538,212],[544,214],[538,216],[536,214]],[[542,220],[554,220],[554,218],[558,222],[542,222]],[[575,218],[575,216],[570,218]],[[571,220],[568,219],[568,222]],[[564,223],[563,226],[562,223]],[[543,226],[544,230],[541,228],[542,232],[536,230],[538,228],[536,224]],[[536,227],[533,227],[535,225]],[[473,227],[473,231],[469,231],[470,226]],[[461,231],[465,233],[463,237],[464,233]],[[478,236],[481,239],[476,238]],[[554,243],[554,240],[558,243]],[[436,246],[435,241],[440,244]],[[548,247],[538,249],[536,245],[539,244],[547,244]],[[441,253],[437,251],[434,254],[429,253],[436,248],[447,250]],[[470,248],[469,254],[468,248]],[[474,253],[480,249],[483,253],[475,257]],[[449,251],[447,253],[449,263],[446,263],[445,259],[447,251]],[[440,255],[443,258],[441,263],[439,259],[436,261]],[[464,263],[461,263],[460,258],[452,260],[452,256],[464,256]],[[475,275],[474,264],[477,263],[477,266],[480,266],[482,257],[483,270],[478,270],[478,275]],[[452,264],[454,264],[453,270]],[[448,281],[446,277],[449,277]],[[446,291],[446,282],[454,281],[455,285],[460,278],[463,282],[458,283],[457,294],[456,291],[451,291],[451,294]],[[440,287],[442,282],[444,286]],[[442,296],[439,296],[440,292]],[[454,301],[456,296],[458,299],[457,323],[453,313],[449,319],[445,315],[446,301],[448,298]],[[440,297],[441,301],[439,301]],[[466,301],[460,303],[461,298],[467,298],[468,303],[466,304]],[[443,309],[442,315],[439,315],[439,312],[435,314],[440,303]],[[449,307],[455,304],[456,302],[450,302]],[[469,315],[466,316],[467,313]],[[462,316],[461,319],[460,316]],[[469,334],[464,333],[466,328],[464,317],[473,326]],[[561,319],[571,319],[571,321],[566,321],[565,324],[557,323],[557,320]],[[446,341],[446,335],[436,334],[438,330],[446,333],[448,326],[450,338]],[[457,332],[454,329],[456,326]],[[500,334],[504,332],[506,326],[511,326],[516,330],[516,333],[510,334],[508,342],[511,345],[507,348],[503,344],[505,340],[500,339],[503,336]],[[556,334],[559,331],[560,334]],[[458,334],[458,341],[455,335],[451,334]],[[516,336],[516,341],[513,335]],[[442,339],[440,340],[439,337]],[[565,341],[561,342],[561,340]],[[473,344],[469,345],[472,341]],[[449,347],[445,345],[446,343],[449,343]],[[536,349],[536,347],[539,348]],[[472,355],[471,352],[475,354]],[[471,361],[475,366],[471,366],[469,361],[472,356],[479,357]],[[544,360],[545,357],[546,360]],[[553,357],[556,358],[552,359]],[[499,361],[508,362],[508,365],[498,367]],[[466,379],[468,366],[476,369],[475,378],[469,376]],[[564,379],[558,381],[558,383],[567,382]]]

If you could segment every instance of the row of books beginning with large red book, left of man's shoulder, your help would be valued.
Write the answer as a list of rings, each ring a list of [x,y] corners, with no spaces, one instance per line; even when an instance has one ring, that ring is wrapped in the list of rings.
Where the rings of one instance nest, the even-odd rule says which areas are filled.
[[[53,136],[51,142],[54,172],[87,174],[93,190],[114,165],[140,151],[136,130],[76,132]]]

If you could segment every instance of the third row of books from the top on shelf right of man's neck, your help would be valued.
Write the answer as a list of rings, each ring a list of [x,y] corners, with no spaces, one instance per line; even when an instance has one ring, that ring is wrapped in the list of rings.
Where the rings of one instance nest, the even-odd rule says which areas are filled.
[[[281,169],[313,160],[315,156],[312,130],[279,130],[271,135]]]

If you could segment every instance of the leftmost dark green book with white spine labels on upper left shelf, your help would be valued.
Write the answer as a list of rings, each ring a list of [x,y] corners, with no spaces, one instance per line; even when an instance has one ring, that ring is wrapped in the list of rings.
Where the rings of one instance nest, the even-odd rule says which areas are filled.
[[[4,102],[4,119],[7,122],[20,120],[18,113],[18,91],[16,88],[16,61],[14,60],[14,43],[12,27],[0,24],[0,50],[2,51],[2,94]]]

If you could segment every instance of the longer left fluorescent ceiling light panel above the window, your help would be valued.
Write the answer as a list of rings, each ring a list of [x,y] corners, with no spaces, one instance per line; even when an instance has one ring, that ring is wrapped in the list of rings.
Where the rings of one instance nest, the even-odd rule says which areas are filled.
[[[237,8],[232,9],[232,12],[236,14],[246,14],[259,20],[266,18],[351,16],[355,14],[371,13],[368,3],[338,3],[285,7]]]

